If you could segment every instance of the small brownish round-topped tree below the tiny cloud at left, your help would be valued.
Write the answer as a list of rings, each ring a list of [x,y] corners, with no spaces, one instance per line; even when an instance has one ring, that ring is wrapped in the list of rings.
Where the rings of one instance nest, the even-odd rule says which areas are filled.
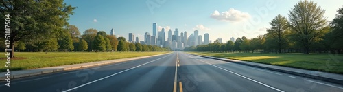
[[[93,48],[93,40],[97,36],[97,30],[95,29],[88,29],[84,31],[84,35],[82,38],[88,43],[88,51],[91,51]]]

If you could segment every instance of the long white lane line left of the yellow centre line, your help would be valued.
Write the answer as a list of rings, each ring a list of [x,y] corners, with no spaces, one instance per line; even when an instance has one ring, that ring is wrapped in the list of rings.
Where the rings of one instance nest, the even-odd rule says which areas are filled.
[[[169,54],[169,55],[171,55],[171,54]],[[167,55],[167,56],[169,56],[169,55]],[[163,56],[162,58],[165,58],[165,57],[167,57],[167,56]],[[156,60],[160,60],[160,59],[162,59],[162,58],[158,58],[158,59],[156,59]],[[154,62],[154,61],[156,61],[156,60],[152,60],[152,61],[150,61],[150,62]],[[73,88],[71,88],[71,89],[68,89],[68,90],[65,90],[65,91],[62,91],[62,92],[72,91],[72,90],[74,90],[74,89],[78,89],[78,88],[80,88],[80,87],[84,87],[84,86],[86,86],[86,85],[88,85],[88,84],[91,84],[91,83],[93,83],[93,82],[97,82],[97,81],[99,81],[99,80],[104,80],[104,79],[106,79],[106,78],[110,78],[111,76],[115,76],[115,75],[117,75],[117,74],[119,74],[119,73],[123,73],[123,72],[129,71],[129,70],[131,70],[131,69],[135,69],[135,68],[137,68],[137,67],[141,67],[142,65],[146,65],[146,64],[148,64],[148,63],[150,63],[150,62],[145,62],[145,63],[143,63],[143,64],[141,64],[141,65],[137,65],[136,67],[132,67],[132,68],[130,68],[130,69],[126,69],[126,70],[123,70],[123,71],[119,71],[119,72],[117,72],[117,73],[113,73],[113,74],[111,74],[110,76],[106,76],[106,77],[104,77],[104,78],[99,78],[99,79],[97,79],[97,80],[93,80],[92,82],[87,82],[86,84],[82,84],[82,85],[80,85],[80,86],[78,86],[78,87],[73,87]]]

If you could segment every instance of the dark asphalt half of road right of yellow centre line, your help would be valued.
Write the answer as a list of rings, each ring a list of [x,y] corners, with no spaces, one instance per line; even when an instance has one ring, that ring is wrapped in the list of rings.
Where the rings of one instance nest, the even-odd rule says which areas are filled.
[[[342,85],[179,52],[184,91],[343,91]]]

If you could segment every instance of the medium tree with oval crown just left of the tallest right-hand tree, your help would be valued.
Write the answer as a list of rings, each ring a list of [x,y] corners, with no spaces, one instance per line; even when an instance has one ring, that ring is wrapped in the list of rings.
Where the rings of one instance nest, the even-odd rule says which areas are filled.
[[[281,47],[285,43],[285,32],[288,30],[288,21],[285,16],[281,16],[280,14],[278,16],[275,16],[272,21],[270,21],[270,29],[267,30],[268,34],[270,34],[274,39],[276,39],[277,47],[279,49],[279,53],[281,53]]]

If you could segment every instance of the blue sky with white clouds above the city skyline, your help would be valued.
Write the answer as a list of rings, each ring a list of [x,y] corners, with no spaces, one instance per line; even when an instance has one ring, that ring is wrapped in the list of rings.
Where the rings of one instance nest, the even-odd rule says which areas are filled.
[[[69,25],[75,25],[83,34],[94,28],[98,31],[115,30],[115,35],[128,39],[133,33],[143,41],[144,33],[152,34],[152,23],[161,28],[175,28],[191,35],[209,33],[211,41],[222,38],[246,36],[255,38],[266,33],[269,22],[278,14],[288,18],[289,10],[300,0],[64,0],[67,5],[77,7],[70,16]],[[342,0],[314,0],[332,21]],[[167,36],[167,31],[166,31]],[[166,37],[167,39],[167,37]],[[202,39],[203,40],[203,39]]]

